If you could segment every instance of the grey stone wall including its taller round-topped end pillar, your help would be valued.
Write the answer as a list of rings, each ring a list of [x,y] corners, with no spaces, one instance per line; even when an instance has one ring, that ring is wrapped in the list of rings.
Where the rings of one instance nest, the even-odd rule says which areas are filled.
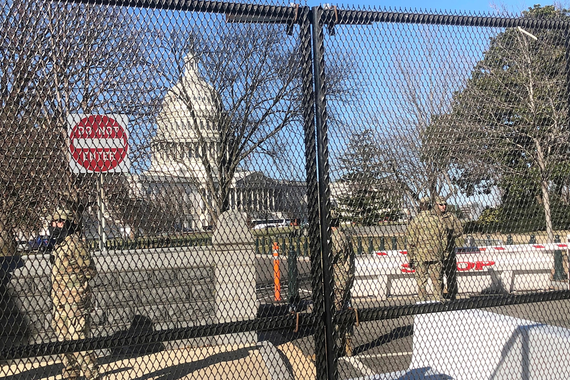
[[[245,214],[222,213],[213,245],[95,252],[97,276],[90,281],[94,301],[92,335],[125,330],[161,330],[255,318],[255,253]],[[22,257],[0,302],[4,330],[0,347],[10,342],[55,339],[51,327],[49,255]],[[257,343],[257,334],[168,342],[177,347],[219,343]]]

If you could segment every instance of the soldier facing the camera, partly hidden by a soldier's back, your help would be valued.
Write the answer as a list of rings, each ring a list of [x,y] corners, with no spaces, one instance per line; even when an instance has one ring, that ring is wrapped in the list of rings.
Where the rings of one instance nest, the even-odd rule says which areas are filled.
[[[443,273],[445,273],[447,280],[447,294],[444,294],[444,296],[455,300],[458,290],[455,239],[461,237],[463,234],[463,226],[454,213],[447,211],[447,201],[444,197],[435,197],[433,208],[446,228],[446,236],[443,239],[443,246],[445,248],[445,252],[443,253]]]

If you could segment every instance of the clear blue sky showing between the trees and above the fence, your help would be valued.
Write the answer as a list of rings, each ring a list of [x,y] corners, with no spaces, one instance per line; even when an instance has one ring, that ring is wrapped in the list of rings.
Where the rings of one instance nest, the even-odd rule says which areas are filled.
[[[303,2],[303,0],[299,1]],[[332,2],[331,2],[332,3]],[[497,8],[506,8],[512,14],[519,14],[520,10],[534,5],[532,2],[520,2],[511,0],[503,3],[501,7],[493,7],[487,1],[447,1],[447,0],[410,0],[406,2],[373,2],[361,0],[357,4],[360,9],[375,8],[377,10],[408,10],[424,12],[445,12],[450,14],[492,14]],[[548,5],[545,2],[543,5]],[[308,1],[308,5],[318,5],[317,1]],[[343,8],[356,7],[352,4],[339,5]],[[173,11],[150,11],[153,17],[141,17],[146,25],[153,25],[163,32],[169,31],[174,25],[184,29],[188,25],[205,27],[206,33],[213,28],[214,20],[221,19],[211,14],[177,13]],[[160,13],[160,16],[157,14]],[[143,12],[144,14],[144,12]],[[153,20],[149,22],[149,20]],[[298,29],[296,29],[298,31]],[[376,23],[370,26],[337,26],[336,36],[325,33],[326,54],[328,56],[354,59],[358,63],[357,71],[363,78],[359,94],[356,95],[358,102],[347,106],[333,99],[328,99],[329,114],[336,111],[339,119],[344,123],[335,126],[329,123],[329,159],[333,172],[331,177],[337,179],[339,173],[334,172],[335,156],[343,152],[346,145],[348,131],[357,131],[363,128],[374,128],[380,135],[394,135],[392,141],[398,139],[399,134],[404,134],[405,128],[398,123],[401,119],[408,118],[402,110],[403,98],[398,95],[402,86],[398,87],[397,78],[404,72],[409,72],[409,78],[415,84],[417,96],[421,99],[429,98],[431,88],[437,87],[442,99],[447,99],[453,91],[461,90],[463,83],[469,78],[475,63],[482,59],[488,46],[490,37],[500,33],[502,29],[487,27],[450,27],[450,26],[427,26],[409,24]],[[295,37],[290,38],[294,43]],[[169,61],[170,62],[170,61]],[[172,62],[170,62],[172,63]],[[172,79],[172,78],[170,78]],[[172,86],[168,83],[167,86]],[[435,91],[432,91],[435,92]],[[423,100],[422,100],[423,102]],[[337,110],[335,110],[337,108]],[[428,110],[430,111],[430,110]],[[132,134],[133,136],[133,134]],[[283,136],[284,137],[284,136]],[[251,170],[260,170],[267,175],[279,178],[304,179],[304,155],[302,139],[299,136],[288,136],[292,140],[290,165],[276,167],[267,161],[265,156],[250,157],[242,163],[242,167]],[[297,139],[295,139],[297,138]],[[389,146],[387,151],[400,152],[398,145]],[[148,161],[141,163],[148,165]],[[290,167],[291,166],[291,167]],[[141,167],[142,168],[142,167]],[[462,204],[466,201],[479,201],[483,204],[494,204],[497,194],[490,196],[467,198],[462,194],[450,199],[452,203]]]

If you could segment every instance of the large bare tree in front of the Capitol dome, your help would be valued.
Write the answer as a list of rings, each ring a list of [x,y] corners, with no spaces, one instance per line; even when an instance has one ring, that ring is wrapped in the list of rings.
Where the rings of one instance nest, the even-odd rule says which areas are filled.
[[[179,80],[157,120],[169,132],[157,133],[155,142],[168,147],[174,138],[184,143],[184,132],[168,136],[177,128],[198,142],[193,150],[185,147],[196,159],[185,176],[193,181],[215,224],[230,207],[235,173],[248,157],[266,157],[274,171],[303,162],[298,159],[302,148],[291,144],[299,142],[303,131],[299,45],[282,26],[236,24],[180,33],[170,42]],[[332,98],[349,96],[349,90],[343,91],[344,80],[355,71],[346,67],[331,65],[327,86]],[[203,120],[213,127],[203,125]],[[181,164],[187,158],[184,152],[170,156],[179,157]]]

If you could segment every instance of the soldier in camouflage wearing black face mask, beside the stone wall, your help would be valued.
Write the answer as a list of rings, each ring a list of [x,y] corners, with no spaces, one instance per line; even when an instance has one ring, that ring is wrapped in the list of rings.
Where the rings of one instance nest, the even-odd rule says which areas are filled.
[[[54,326],[60,341],[87,338],[91,289],[88,281],[95,276],[95,266],[79,235],[74,213],[58,210],[48,217],[55,240],[52,252],[52,300]],[[63,355],[63,378],[75,379],[83,373],[86,380],[99,378],[99,366],[93,351]]]

